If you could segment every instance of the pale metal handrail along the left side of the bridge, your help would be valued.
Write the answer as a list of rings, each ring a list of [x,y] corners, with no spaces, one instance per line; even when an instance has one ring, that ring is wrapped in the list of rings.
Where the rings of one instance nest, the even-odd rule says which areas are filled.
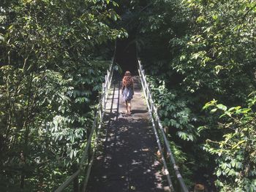
[[[99,100],[99,104],[97,105],[97,112],[96,115],[94,117],[94,123],[91,126],[91,133],[89,134],[88,139],[86,140],[86,147],[83,150],[83,155],[82,158],[79,162],[79,166],[78,166],[78,170],[73,173],[64,183],[62,183],[59,188],[56,189],[55,192],[61,192],[64,191],[65,188],[67,188],[70,183],[75,182],[75,180],[78,179],[78,176],[80,175],[80,172],[83,170],[83,164],[85,161],[87,162],[87,171],[86,171],[86,177],[85,180],[83,182],[83,188],[82,191],[86,191],[86,185],[88,183],[89,180],[89,174],[91,172],[91,165],[92,162],[94,160],[94,153],[97,147],[97,139],[98,139],[98,130],[101,128],[102,126],[102,120],[104,117],[104,113],[105,113],[105,106],[107,103],[107,98],[108,98],[108,93],[110,90],[110,85],[111,85],[111,81],[112,81],[112,77],[113,77],[113,64],[114,64],[114,60],[115,60],[115,55],[116,55],[116,43],[115,43],[115,50],[114,50],[114,54],[113,54],[113,58],[110,64],[110,68],[107,71],[107,74],[105,75],[105,83],[102,83],[102,93],[101,93],[101,97]],[[91,150],[91,142],[92,142],[92,138],[94,137],[94,147],[93,147],[93,151],[91,154],[91,158],[89,159],[89,149]],[[77,186],[78,188],[78,186]],[[75,191],[75,190],[74,190]]]

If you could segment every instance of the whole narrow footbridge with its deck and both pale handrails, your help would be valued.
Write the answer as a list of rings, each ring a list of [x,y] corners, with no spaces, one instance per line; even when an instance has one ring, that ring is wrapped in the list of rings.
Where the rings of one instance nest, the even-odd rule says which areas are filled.
[[[78,169],[56,192],[188,192],[140,61],[132,115],[124,113],[121,79],[113,77],[113,68],[112,61]]]

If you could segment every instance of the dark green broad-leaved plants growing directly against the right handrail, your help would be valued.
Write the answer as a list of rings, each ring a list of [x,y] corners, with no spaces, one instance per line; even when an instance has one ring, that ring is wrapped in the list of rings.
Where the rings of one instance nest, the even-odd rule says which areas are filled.
[[[170,148],[173,155],[176,157],[176,163],[182,172],[185,182],[188,186],[191,186],[193,184],[190,179],[192,177],[191,165],[194,164],[195,159],[188,157],[182,150],[181,145],[183,145],[182,142],[184,141],[195,141],[197,135],[195,132],[196,129],[192,125],[192,120],[194,119],[191,118],[192,114],[187,107],[187,101],[178,99],[178,94],[174,91],[169,92],[165,88],[164,81],[156,80],[153,77],[147,77],[147,81],[149,82],[159,117],[162,119],[162,126],[168,129],[167,138],[170,141]],[[168,166],[170,170],[173,170],[173,165],[170,162]],[[174,185],[178,186],[175,172],[171,171],[170,173],[171,177],[173,177]]]

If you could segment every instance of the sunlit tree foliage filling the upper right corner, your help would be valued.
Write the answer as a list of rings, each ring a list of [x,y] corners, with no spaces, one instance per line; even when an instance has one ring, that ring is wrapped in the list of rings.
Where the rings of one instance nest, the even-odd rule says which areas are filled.
[[[255,2],[188,1],[187,6],[197,13],[195,24],[182,41],[171,40],[173,46],[184,45],[173,69],[186,76],[184,85],[192,93],[203,88],[244,101],[255,86],[254,70],[248,70],[255,63]]]

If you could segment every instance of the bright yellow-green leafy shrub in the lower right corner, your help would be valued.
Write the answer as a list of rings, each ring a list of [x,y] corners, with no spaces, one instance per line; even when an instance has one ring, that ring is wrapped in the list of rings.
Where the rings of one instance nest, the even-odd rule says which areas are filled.
[[[225,133],[223,139],[208,139],[205,145],[209,153],[218,156],[216,161],[219,166],[215,174],[219,179],[216,183],[222,191],[256,190],[255,103],[254,92],[249,96],[246,108],[238,106],[228,109],[217,101],[208,102],[204,107],[211,107],[211,112],[222,113],[218,128]]]

